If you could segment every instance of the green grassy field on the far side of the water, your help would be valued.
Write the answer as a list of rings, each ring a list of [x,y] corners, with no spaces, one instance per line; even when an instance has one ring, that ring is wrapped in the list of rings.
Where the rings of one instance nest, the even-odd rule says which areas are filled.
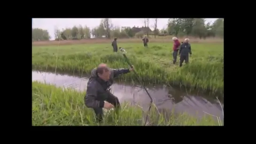
[[[120,43],[145,84],[187,86],[200,91],[222,93],[224,90],[223,43],[192,43],[190,64],[181,68],[172,64],[172,43]],[[112,52],[111,45],[82,44],[33,46],[32,68],[62,72],[89,73],[100,63],[112,68],[128,67],[123,56]],[[178,57],[179,59],[179,57]],[[120,80],[137,80],[132,73]]]

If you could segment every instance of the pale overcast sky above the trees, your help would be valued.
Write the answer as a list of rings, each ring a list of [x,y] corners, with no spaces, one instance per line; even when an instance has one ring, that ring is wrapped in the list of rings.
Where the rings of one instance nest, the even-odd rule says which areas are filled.
[[[159,18],[157,22],[157,28],[166,28],[169,18]],[[214,22],[217,18],[207,18],[206,22]],[[133,26],[143,26],[143,18],[113,18],[112,23],[119,27],[133,27]],[[153,21],[153,19],[151,19]],[[150,26],[153,22],[149,23]],[[32,28],[47,29],[51,39],[54,39],[54,28],[72,28],[75,25],[81,24],[83,27],[87,25],[89,28],[94,28],[98,26],[101,22],[100,18],[33,18]]]

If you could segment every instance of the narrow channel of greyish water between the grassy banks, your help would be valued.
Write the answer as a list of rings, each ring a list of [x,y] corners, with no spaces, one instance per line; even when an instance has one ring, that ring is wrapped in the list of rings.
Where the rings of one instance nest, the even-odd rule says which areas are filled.
[[[74,88],[78,91],[86,90],[88,79],[89,75],[32,71],[32,81]],[[159,110],[172,111],[174,113],[185,112],[198,118],[209,113],[220,117],[221,120],[224,119],[222,108],[214,95],[200,94],[195,91],[165,85],[146,87]],[[121,103],[126,101],[131,104],[137,104],[145,110],[149,106],[150,99],[140,85],[132,85],[116,80],[111,86],[111,92],[119,98]],[[222,99],[219,100],[224,108],[224,102]]]

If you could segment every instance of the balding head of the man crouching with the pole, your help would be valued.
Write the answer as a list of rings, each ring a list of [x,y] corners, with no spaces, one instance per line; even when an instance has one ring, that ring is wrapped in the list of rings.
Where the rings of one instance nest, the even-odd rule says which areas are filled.
[[[107,64],[100,64],[98,65],[98,67],[96,68],[96,72],[97,72],[97,75],[105,80],[105,81],[108,81],[109,78],[110,78],[110,70],[107,66]]]

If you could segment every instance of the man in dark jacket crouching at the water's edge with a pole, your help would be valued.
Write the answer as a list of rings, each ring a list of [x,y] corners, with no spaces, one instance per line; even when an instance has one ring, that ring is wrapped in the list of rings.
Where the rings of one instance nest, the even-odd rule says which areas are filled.
[[[113,84],[114,78],[132,71],[133,67],[130,69],[110,69],[106,64],[100,64],[92,70],[87,83],[85,106],[93,108],[97,122],[103,120],[102,108],[111,109],[115,107],[118,111],[120,102],[115,95],[109,92],[110,86]]]

